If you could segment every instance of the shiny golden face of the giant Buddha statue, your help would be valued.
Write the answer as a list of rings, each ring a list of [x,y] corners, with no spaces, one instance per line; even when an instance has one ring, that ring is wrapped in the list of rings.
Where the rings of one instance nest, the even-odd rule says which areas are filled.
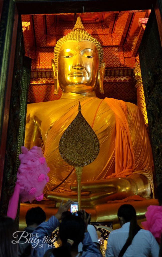
[[[90,41],[67,41],[59,49],[58,80],[63,92],[95,90],[99,74],[99,55]]]

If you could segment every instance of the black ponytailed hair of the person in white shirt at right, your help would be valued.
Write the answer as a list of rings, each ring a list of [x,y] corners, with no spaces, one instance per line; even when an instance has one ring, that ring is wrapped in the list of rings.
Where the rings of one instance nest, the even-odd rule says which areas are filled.
[[[131,204],[123,204],[118,209],[118,217],[123,217],[125,222],[130,222],[129,236],[127,238],[127,242],[130,245],[136,229],[139,228],[137,224],[136,210]]]

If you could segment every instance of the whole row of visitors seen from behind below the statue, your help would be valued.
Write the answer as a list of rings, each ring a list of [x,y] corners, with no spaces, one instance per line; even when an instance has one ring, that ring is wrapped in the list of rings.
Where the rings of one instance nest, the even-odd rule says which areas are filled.
[[[73,202],[63,201],[58,212],[48,221],[40,207],[26,213],[27,227],[17,231],[13,219],[0,217],[1,257],[101,257],[100,244],[95,228],[89,224],[90,214],[80,210],[73,215],[69,212]],[[107,240],[106,257],[151,256],[161,257],[159,245],[151,232],[137,224],[134,207],[123,204],[118,209],[121,228],[113,230]],[[52,232],[59,227],[62,242],[55,248]]]

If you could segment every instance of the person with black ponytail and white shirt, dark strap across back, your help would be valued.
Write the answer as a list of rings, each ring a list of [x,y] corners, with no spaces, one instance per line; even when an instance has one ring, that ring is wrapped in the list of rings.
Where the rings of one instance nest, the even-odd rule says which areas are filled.
[[[158,243],[151,232],[137,225],[136,210],[132,205],[121,205],[118,209],[118,219],[121,228],[110,233],[106,257],[148,257],[150,253],[152,257],[158,257]]]

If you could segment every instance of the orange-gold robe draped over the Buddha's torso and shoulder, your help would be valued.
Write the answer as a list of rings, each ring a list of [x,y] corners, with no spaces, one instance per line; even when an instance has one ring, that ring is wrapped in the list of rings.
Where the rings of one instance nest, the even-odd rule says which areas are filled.
[[[62,97],[56,101],[60,104],[58,104],[58,107],[54,107],[53,111],[47,115],[41,124],[41,134],[45,148],[44,157],[50,167],[48,173],[50,180],[44,188],[44,193],[53,190],[72,170],[70,176],[54,191],[64,194],[66,192],[70,193],[72,192],[70,185],[77,182],[75,170],[61,158],[58,146],[62,134],[78,114],[79,100],[82,115],[90,126],[93,126],[92,128],[100,142],[98,157],[91,164],[83,167],[81,181],[88,182],[107,177],[126,177],[133,172],[147,177],[153,190],[151,145],[144,118],[138,107],[112,98],[101,100],[94,96],[82,96],[79,99],[66,99],[64,96],[64,98]],[[115,101],[118,101],[118,103]],[[120,105],[122,105],[121,108]],[[123,108],[125,114],[122,113]],[[123,137],[120,137],[119,133],[117,134],[116,130],[119,129],[119,126],[123,126],[120,120],[125,123],[124,126],[130,131],[130,134],[126,130],[123,131],[124,138],[128,142],[123,142]],[[124,144],[130,144],[128,152],[125,151]],[[125,158],[125,162],[121,161],[123,158]],[[127,161],[127,164],[128,162],[129,164],[125,165],[127,159],[129,159]]]

